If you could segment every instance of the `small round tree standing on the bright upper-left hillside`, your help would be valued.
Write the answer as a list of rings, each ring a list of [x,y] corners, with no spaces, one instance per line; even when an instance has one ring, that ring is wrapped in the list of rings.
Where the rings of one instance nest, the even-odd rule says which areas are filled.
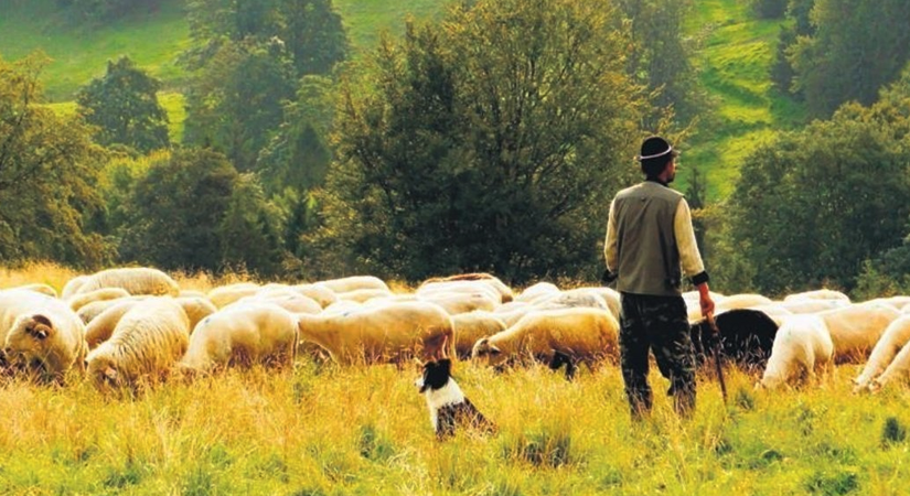
[[[98,127],[99,143],[121,143],[144,153],[170,145],[159,89],[158,79],[124,56],[108,62],[107,74],[83,87],[76,103],[86,121]]]

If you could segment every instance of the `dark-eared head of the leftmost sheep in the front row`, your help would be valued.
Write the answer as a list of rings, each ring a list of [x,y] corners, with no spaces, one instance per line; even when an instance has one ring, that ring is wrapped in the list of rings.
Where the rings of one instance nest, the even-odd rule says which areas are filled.
[[[13,369],[42,371],[50,358],[54,325],[44,315],[22,315],[7,335],[3,354]]]

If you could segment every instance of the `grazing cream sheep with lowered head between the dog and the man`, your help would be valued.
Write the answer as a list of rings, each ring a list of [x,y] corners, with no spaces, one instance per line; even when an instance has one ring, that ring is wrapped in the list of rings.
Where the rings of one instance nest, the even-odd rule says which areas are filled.
[[[589,369],[603,359],[619,357],[619,322],[609,310],[571,308],[534,311],[515,325],[479,339],[471,353],[496,366],[521,355],[531,355],[558,368],[566,363],[571,378],[578,364]]]

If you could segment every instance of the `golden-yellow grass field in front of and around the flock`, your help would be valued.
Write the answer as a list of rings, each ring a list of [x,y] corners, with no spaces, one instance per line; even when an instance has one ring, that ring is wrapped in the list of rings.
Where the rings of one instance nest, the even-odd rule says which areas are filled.
[[[0,272],[0,288],[76,273]],[[186,289],[228,282],[178,276]],[[243,279],[236,277],[236,279]],[[438,442],[416,365],[340,367],[299,358],[108,398],[66,386],[0,386],[0,494],[148,495],[838,495],[908,494],[910,390],[853,396],[861,365],[802,390],[752,390],[727,370],[730,401],[699,377],[679,421],[654,369],[655,408],[629,419],[617,366],[572,382],[545,367],[454,376],[499,425]]]

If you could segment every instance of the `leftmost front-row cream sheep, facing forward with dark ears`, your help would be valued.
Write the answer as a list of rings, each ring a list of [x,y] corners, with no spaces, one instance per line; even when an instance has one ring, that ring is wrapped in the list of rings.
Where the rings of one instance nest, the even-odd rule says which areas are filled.
[[[0,291],[0,342],[13,369],[60,380],[84,370],[85,325],[66,303],[30,290]]]

